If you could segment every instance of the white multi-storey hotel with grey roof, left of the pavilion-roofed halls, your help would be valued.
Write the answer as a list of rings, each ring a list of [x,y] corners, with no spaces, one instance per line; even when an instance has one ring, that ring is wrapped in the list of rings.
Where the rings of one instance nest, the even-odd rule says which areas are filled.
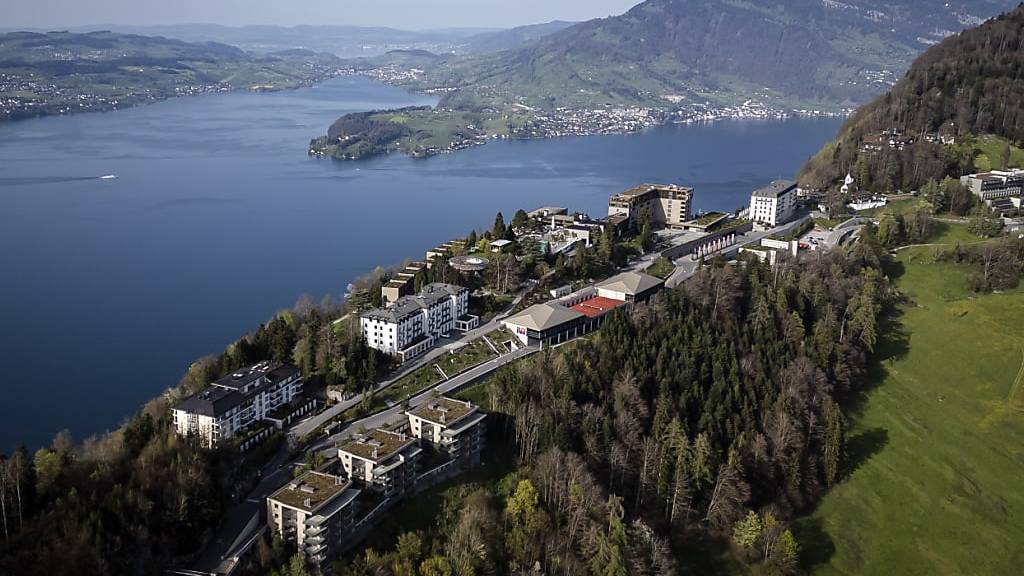
[[[453,330],[471,330],[479,323],[469,316],[469,290],[452,284],[428,284],[415,296],[370,311],[359,319],[367,344],[401,362],[430,349]]]

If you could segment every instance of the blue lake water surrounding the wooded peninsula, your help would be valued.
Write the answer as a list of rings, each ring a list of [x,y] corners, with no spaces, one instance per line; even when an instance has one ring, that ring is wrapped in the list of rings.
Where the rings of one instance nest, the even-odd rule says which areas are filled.
[[[0,125],[0,452],[120,424],[303,293],[489,227],[603,213],[643,181],[733,210],[839,120],[724,121],[496,141],[426,160],[306,156],[341,114],[430,104],[361,78]],[[117,179],[98,179],[116,174]]]

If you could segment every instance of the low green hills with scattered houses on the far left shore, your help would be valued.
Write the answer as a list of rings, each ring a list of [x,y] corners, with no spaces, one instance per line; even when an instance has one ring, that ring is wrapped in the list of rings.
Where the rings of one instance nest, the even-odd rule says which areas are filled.
[[[0,120],[126,108],[178,95],[276,90],[337,74],[332,54],[253,54],[113,32],[0,35]]]

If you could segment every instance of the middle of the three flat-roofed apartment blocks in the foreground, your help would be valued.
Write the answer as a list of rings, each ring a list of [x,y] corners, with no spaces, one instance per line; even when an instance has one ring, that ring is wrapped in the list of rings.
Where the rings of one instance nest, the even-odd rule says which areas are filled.
[[[392,498],[416,483],[422,452],[412,436],[378,428],[341,445],[338,458],[351,481]]]

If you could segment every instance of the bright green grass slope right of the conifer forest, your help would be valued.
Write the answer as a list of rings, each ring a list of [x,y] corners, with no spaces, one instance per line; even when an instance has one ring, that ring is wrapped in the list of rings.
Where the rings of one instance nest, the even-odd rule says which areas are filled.
[[[811,572],[1024,566],[1024,291],[975,297],[967,269],[933,251],[901,251],[891,271],[910,303],[850,407],[849,476],[798,523]]]

